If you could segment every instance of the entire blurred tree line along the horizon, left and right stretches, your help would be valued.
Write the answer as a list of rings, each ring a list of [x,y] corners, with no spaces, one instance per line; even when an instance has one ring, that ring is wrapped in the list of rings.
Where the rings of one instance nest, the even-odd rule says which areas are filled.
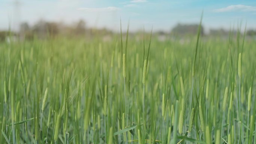
[[[174,35],[174,36],[195,36],[197,34],[199,24],[177,24],[171,31],[158,31],[157,35]],[[0,31],[0,41],[6,40],[10,36],[14,36],[16,39],[44,39],[46,37],[66,36],[76,37],[82,36],[86,38],[92,38],[94,36],[111,36],[113,32],[111,30],[89,28],[86,26],[86,22],[79,20],[71,25],[66,25],[63,22],[49,22],[40,20],[34,25],[29,25],[27,22],[20,24],[19,32],[12,31]],[[201,25],[201,36],[229,36],[230,31],[220,29],[210,29],[206,34],[204,27]],[[236,32],[233,31],[235,36]],[[247,36],[256,36],[256,30],[247,30]]]

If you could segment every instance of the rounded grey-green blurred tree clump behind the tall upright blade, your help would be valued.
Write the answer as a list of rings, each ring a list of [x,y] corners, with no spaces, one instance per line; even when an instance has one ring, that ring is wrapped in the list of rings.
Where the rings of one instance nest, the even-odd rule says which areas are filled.
[[[171,32],[178,35],[196,35],[198,28],[198,24],[177,24]],[[203,34],[204,28],[201,25],[201,35]]]

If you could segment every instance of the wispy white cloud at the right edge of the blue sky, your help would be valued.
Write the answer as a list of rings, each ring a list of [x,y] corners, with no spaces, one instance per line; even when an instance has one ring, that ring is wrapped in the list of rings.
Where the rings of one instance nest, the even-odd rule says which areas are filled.
[[[214,10],[214,12],[230,12],[230,11],[256,11],[256,7],[237,4],[237,5],[230,5],[221,9]]]

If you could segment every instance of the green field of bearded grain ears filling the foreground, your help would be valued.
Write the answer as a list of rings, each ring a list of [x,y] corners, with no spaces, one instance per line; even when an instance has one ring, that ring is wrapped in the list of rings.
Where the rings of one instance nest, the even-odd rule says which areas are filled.
[[[256,144],[256,42],[234,33],[1,42],[0,143]]]

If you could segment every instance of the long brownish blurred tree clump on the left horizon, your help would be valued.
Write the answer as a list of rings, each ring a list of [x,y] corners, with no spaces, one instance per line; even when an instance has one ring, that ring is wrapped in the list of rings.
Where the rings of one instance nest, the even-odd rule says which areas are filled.
[[[86,27],[86,22],[79,20],[71,25],[64,24],[63,22],[49,22],[40,20],[34,25],[29,25],[27,22],[23,22],[19,26],[18,32],[12,31],[0,31],[0,41],[6,40],[6,38],[12,36],[18,39],[45,39],[46,37],[67,36],[67,37],[93,37],[95,35],[107,35],[112,34],[112,31],[106,28],[95,29]],[[15,39],[16,39],[15,38]]]

